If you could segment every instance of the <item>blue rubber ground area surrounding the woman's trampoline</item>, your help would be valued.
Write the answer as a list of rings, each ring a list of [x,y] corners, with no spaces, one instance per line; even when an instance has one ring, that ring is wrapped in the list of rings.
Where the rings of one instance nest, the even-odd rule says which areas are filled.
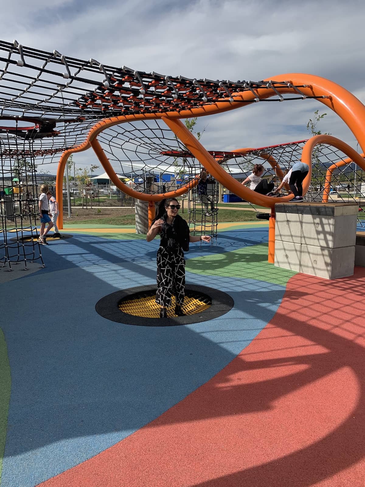
[[[191,244],[204,258],[267,242],[267,229]],[[0,286],[12,376],[1,487],[30,487],[124,439],[217,374],[274,316],[285,288],[187,272],[235,301],[226,315],[176,327],[111,322],[102,297],[153,284],[158,242],[78,235],[42,247],[46,268]],[[253,303],[255,305],[253,305]]]

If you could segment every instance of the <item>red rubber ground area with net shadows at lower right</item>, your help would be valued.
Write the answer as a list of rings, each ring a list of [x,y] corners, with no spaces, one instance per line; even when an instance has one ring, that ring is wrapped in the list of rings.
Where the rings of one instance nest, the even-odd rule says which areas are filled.
[[[292,277],[266,328],[144,428],[43,487],[363,487],[365,269]]]

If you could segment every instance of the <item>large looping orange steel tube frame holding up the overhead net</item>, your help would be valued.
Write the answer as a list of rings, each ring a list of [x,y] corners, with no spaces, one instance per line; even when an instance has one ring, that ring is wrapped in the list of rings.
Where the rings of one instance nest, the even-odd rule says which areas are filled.
[[[298,91],[293,88],[292,85],[301,86],[300,92],[304,96],[317,96],[322,97],[318,98],[318,101],[326,105],[328,108],[333,110],[333,112],[337,113],[342,120],[347,124],[347,127],[352,131],[355,138],[359,142],[360,147],[365,152],[365,106],[358,100],[353,94],[349,93],[345,88],[342,88],[340,85],[329,81],[326,78],[322,78],[320,76],[314,75],[307,75],[302,73],[291,73],[291,74],[284,74],[284,75],[277,75],[271,78],[267,78],[265,81],[270,81],[271,79],[284,79],[288,81],[287,87],[277,87],[275,90],[273,88],[259,88],[256,90],[258,99],[266,99],[272,96],[276,96],[277,93],[279,94],[295,94],[298,95]],[[123,115],[112,117],[109,119],[102,120],[98,124],[96,124],[88,134],[87,139],[83,144],[79,147],[76,147],[71,150],[65,151],[60,159],[59,170],[57,171],[57,190],[56,190],[56,198],[59,202],[61,202],[62,196],[62,178],[63,178],[63,171],[67,162],[67,158],[71,153],[79,152],[80,150],[86,150],[90,145],[92,145],[93,149],[97,153],[100,162],[102,163],[104,169],[104,163],[108,167],[106,172],[110,179],[114,182],[114,184],[122,189],[123,191],[127,192],[127,194],[132,195],[135,198],[143,199],[146,201],[158,201],[164,198],[170,193],[166,195],[146,195],[144,193],[134,192],[126,185],[123,185],[118,179],[115,179],[113,174],[115,175],[114,170],[112,169],[109,160],[105,156],[100,144],[95,140],[98,133],[111,127],[112,125],[121,124],[124,122],[129,121],[136,121],[136,120],[155,120],[155,119],[163,119],[166,125],[176,134],[176,136],[185,144],[188,150],[192,152],[195,157],[200,161],[200,163],[225,187],[230,189],[233,193],[237,194],[237,196],[255,203],[256,205],[266,206],[272,209],[272,218],[274,216],[274,206],[275,203],[283,203],[288,202],[292,199],[292,195],[284,196],[281,198],[271,198],[270,196],[261,195],[256,193],[255,191],[251,191],[250,189],[243,187],[240,183],[238,183],[230,174],[228,174],[223,168],[221,168],[218,162],[203,148],[201,143],[192,135],[186,127],[182,124],[179,119],[182,118],[189,118],[189,117],[200,117],[204,115],[212,115],[215,113],[220,112],[227,112],[229,110],[234,110],[237,108],[242,107],[243,103],[237,102],[245,102],[244,105],[249,105],[255,102],[256,95],[251,91],[244,91],[239,92],[237,94],[232,95],[234,102],[231,103],[229,101],[219,101],[212,104],[204,105],[201,108],[193,108],[191,110],[182,110],[181,112],[166,112],[166,113],[140,113],[136,115]],[[320,136],[319,136],[320,137]],[[338,139],[335,139],[338,141]],[[329,139],[327,139],[329,140]],[[333,141],[329,142],[332,143]],[[341,141],[339,141],[341,142]],[[344,144],[344,143],[343,143]],[[347,146],[346,144],[343,146],[346,150],[344,150],[347,155]],[[308,146],[309,147],[309,146]],[[338,147],[338,146],[336,146]],[[305,194],[308,190],[310,185],[310,176],[311,176],[311,150],[308,149],[309,153],[306,155],[303,153],[302,160],[303,162],[307,162],[310,167],[310,171],[308,176],[303,182],[303,193]],[[352,149],[351,149],[352,154]],[[356,152],[355,152],[356,154]],[[360,157],[357,154],[358,157]],[[269,161],[271,162],[271,161]],[[358,163],[358,159],[354,159],[354,162]],[[360,167],[362,167],[360,165]],[[111,171],[111,172],[109,172]],[[113,177],[112,177],[113,176]],[[198,181],[195,182],[197,184]],[[118,183],[118,184],[116,184]],[[189,183],[190,186],[193,186],[193,182]],[[183,189],[183,188],[180,188]],[[179,189],[179,190],[180,190]],[[128,191],[127,191],[128,190]],[[187,189],[186,189],[187,190]],[[131,194],[133,191],[133,194]],[[184,191],[182,191],[184,192]],[[137,193],[137,194],[135,194]],[[174,195],[177,194],[174,192]],[[182,193],[180,193],[182,194]],[[60,205],[60,228],[62,228],[62,205]],[[272,241],[274,226],[273,223],[270,225],[271,233],[269,235],[269,240]],[[271,254],[273,254],[273,250],[271,250]]]

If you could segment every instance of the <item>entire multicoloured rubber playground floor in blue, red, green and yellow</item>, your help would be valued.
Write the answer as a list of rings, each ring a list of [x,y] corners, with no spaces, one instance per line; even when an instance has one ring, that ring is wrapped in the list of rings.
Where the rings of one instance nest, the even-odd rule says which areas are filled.
[[[279,269],[267,223],[221,224],[186,282],[233,308],[133,326],[95,304],[155,283],[157,239],[64,233],[44,269],[0,284],[1,487],[365,485],[365,268]]]

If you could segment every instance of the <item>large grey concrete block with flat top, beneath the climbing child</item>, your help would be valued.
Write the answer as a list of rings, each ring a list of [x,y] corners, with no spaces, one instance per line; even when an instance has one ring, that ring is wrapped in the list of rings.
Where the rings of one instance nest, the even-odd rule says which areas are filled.
[[[275,265],[325,279],[354,273],[359,206],[276,204]]]

